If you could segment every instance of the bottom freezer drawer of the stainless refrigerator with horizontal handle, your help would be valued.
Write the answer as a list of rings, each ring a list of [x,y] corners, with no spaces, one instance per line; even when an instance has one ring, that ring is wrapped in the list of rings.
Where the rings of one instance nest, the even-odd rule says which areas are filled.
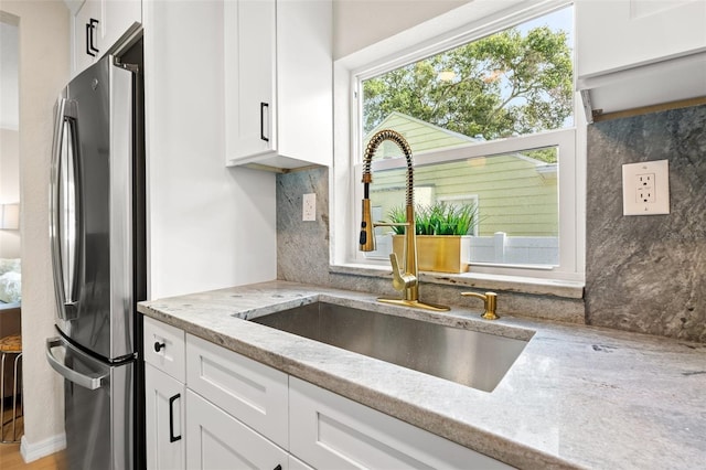
[[[65,378],[67,468],[132,469],[135,362],[110,366],[63,338],[46,341],[46,356]]]

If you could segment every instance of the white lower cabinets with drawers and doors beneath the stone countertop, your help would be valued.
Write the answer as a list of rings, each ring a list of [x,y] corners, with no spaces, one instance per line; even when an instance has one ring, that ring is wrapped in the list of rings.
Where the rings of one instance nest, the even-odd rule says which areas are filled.
[[[149,469],[510,468],[174,327],[145,324]]]

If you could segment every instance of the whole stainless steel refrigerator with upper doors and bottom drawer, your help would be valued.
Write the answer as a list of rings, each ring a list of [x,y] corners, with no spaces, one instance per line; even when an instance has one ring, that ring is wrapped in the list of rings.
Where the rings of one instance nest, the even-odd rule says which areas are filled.
[[[55,107],[50,238],[69,469],[143,467],[146,298],[141,42],[76,76]]]

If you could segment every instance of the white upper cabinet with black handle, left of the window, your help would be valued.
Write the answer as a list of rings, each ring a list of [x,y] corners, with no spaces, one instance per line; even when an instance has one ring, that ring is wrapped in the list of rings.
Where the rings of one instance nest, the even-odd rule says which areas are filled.
[[[329,165],[332,66],[330,1],[226,1],[226,164]]]

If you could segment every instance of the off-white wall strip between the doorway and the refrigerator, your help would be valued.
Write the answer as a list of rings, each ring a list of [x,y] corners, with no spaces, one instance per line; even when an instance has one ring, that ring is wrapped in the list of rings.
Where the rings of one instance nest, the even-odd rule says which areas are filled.
[[[49,246],[53,106],[68,79],[68,10],[61,1],[0,3],[20,24],[20,179],[22,201],[22,452],[33,460],[62,447],[63,391],[44,359],[54,332]]]

